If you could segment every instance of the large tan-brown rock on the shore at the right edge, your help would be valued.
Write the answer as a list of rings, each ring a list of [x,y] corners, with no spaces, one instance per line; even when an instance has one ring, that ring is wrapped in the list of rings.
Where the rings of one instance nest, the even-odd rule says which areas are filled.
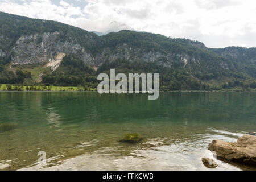
[[[243,135],[233,143],[213,140],[208,149],[215,151],[221,158],[256,165],[256,136],[254,135]]]

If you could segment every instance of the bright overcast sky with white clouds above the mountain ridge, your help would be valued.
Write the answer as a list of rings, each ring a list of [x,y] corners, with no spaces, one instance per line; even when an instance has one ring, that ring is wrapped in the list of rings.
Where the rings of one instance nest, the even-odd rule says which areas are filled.
[[[117,21],[207,47],[256,47],[255,0],[0,0],[0,11],[88,31],[104,32]]]

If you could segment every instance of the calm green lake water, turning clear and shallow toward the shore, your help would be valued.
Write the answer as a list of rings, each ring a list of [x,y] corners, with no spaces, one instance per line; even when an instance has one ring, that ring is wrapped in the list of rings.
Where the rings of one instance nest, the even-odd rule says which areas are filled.
[[[0,92],[1,123],[15,126],[0,130],[2,170],[207,170],[201,158],[213,139],[255,134],[256,93]],[[119,142],[126,133],[143,140]]]

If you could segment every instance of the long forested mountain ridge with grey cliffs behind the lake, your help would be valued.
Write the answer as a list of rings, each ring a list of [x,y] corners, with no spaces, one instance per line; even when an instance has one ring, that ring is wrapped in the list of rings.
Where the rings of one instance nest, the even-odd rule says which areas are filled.
[[[109,33],[98,36],[59,22],[0,13],[0,83],[95,87],[98,73],[116,68],[159,73],[162,90],[254,87],[255,48],[207,48],[129,28],[112,22]]]

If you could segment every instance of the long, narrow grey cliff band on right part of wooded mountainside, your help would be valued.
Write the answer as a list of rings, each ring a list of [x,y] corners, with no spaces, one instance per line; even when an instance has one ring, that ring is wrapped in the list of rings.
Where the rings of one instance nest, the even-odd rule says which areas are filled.
[[[134,48],[129,44],[122,44],[116,46],[114,50],[104,48],[100,54],[94,56],[94,66],[100,67],[104,61],[110,62],[117,59],[124,59],[128,61],[146,61],[148,63],[156,63],[166,68],[183,68],[192,72],[206,72],[213,67],[218,67],[222,70],[236,70],[232,62],[225,62],[224,59],[212,61],[209,57],[207,61],[199,56],[189,55],[188,53],[173,52],[171,49],[165,52],[160,51],[145,51],[141,48]]]

